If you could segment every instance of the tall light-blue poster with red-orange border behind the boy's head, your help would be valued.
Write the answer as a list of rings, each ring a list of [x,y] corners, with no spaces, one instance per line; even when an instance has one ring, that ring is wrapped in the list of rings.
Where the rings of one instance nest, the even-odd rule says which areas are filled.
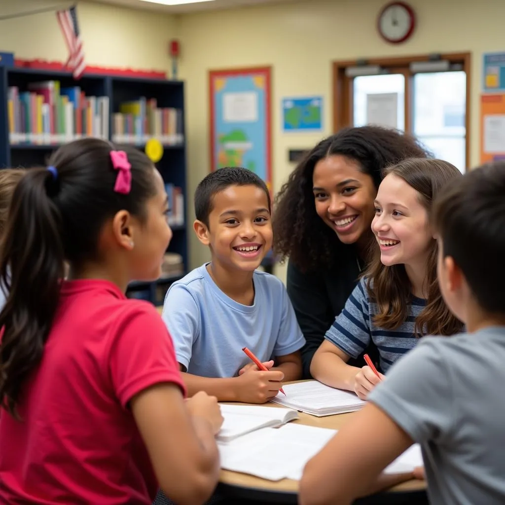
[[[209,72],[211,170],[244,167],[272,191],[270,68]]]

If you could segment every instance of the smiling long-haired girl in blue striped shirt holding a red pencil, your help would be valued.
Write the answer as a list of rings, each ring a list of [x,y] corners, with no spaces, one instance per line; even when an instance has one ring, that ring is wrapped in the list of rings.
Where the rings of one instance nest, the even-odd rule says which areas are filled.
[[[384,375],[346,362],[360,356],[370,340],[385,373],[419,337],[462,330],[438,288],[437,242],[429,226],[434,198],[461,177],[455,166],[434,159],[411,158],[385,171],[372,221],[374,258],[314,355],[315,379],[366,399]]]

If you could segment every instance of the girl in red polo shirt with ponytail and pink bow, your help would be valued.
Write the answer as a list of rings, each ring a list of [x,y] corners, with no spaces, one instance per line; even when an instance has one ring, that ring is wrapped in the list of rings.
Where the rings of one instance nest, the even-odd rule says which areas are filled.
[[[125,296],[159,277],[167,212],[153,163],[96,138],[19,181],[0,261],[0,503],[150,505],[158,481],[201,503],[215,488],[217,400],[185,401],[163,321]]]

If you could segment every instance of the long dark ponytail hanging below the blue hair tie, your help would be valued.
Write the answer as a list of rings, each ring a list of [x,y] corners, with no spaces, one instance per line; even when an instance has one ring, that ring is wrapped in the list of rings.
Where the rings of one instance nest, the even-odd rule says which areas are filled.
[[[56,175],[56,176],[55,176]],[[0,312],[0,408],[18,417],[22,386],[39,364],[64,277],[57,174],[30,169],[19,181],[0,253],[7,302]]]

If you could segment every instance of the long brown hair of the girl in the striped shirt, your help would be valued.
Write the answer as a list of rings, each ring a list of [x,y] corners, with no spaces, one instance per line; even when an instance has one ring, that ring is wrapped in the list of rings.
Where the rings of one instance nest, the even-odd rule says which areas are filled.
[[[461,172],[450,163],[435,159],[407,159],[387,168],[384,176],[394,174],[401,177],[419,193],[419,200],[431,214],[433,200],[440,189],[449,181],[462,177]],[[415,333],[453,335],[462,330],[463,324],[449,311],[443,301],[437,280],[437,241],[431,240],[426,273],[428,299],[426,307],[416,318]],[[409,315],[412,301],[411,282],[405,265],[384,266],[380,261],[380,249],[374,244],[372,260],[365,272],[367,289],[372,301],[379,307],[374,324],[392,330],[403,324]]]

